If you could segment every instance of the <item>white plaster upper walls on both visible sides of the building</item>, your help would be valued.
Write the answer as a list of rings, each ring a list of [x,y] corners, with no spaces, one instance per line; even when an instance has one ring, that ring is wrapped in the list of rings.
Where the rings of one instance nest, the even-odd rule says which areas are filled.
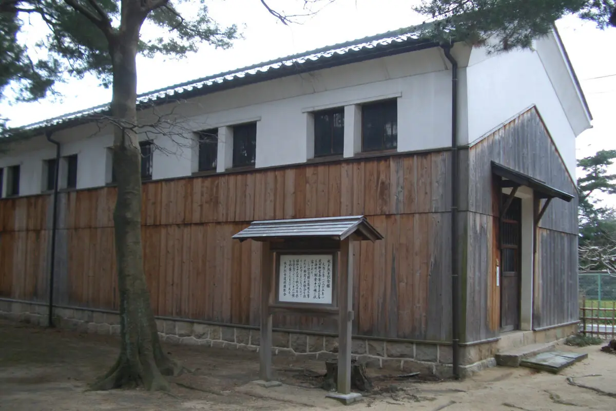
[[[551,54],[546,53],[548,57],[543,59],[556,59],[554,47],[546,48]],[[456,45],[453,54],[460,62],[461,144],[479,139],[524,108],[537,104],[574,175],[575,134],[537,52],[487,56],[481,49],[471,51]],[[303,163],[312,157],[311,128],[307,124],[310,112],[333,107],[345,107],[349,117],[345,121],[344,157],[351,157],[360,147],[358,105],[386,98],[398,102],[398,151],[449,147],[451,74],[442,50],[434,48],[237,87],[190,99],[179,107],[157,107],[156,115],[173,110],[177,135],[173,137],[175,142],[164,136],[155,139],[160,150],[153,154],[152,178],[189,176],[197,171],[192,131],[230,131],[227,127],[248,121],[257,122],[257,168]],[[571,97],[562,96],[561,99]],[[139,113],[145,123],[156,119],[152,114]],[[98,131],[94,126],[84,125],[58,132],[54,138],[62,142],[63,156],[79,156],[78,189],[99,187],[110,181],[108,147],[113,144],[113,137],[108,129]],[[229,165],[232,143],[221,144],[218,171]],[[54,145],[41,136],[13,148],[8,155],[0,155],[0,167],[22,163],[20,193],[40,193],[43,160],[54,157]],[[7,173],[4,174],[6,180]]]

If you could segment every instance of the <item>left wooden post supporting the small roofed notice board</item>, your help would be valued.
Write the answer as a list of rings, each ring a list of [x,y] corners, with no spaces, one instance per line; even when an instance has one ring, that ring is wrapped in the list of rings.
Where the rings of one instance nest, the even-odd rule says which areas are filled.
[[[261,249],[261,341],[259,377],[265,383],[272,381],[272,314],[269,312],[272,291],[272,253],[270,243],[263,242]]]

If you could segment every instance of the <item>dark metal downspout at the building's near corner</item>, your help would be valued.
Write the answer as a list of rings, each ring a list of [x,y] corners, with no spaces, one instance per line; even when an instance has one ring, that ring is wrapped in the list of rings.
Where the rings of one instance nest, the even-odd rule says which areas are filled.
[[[460,267],[458,266],[458,62],[452,44],[441,44],[452,63],[452,354],[453,376],[460,378]]]

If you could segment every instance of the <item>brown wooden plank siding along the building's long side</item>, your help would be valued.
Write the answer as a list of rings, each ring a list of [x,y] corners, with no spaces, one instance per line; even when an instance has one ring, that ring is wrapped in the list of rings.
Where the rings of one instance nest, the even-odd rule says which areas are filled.
[[[261,244],[230,237],[256,219],[365,214],[385,239],[354,248],[354,332],[450,341],[450,164],[445,151],[144,183],[155,314],[259,325]],[[115,196],[60,193],[56,303],[118,309]],[[51,196],[0,200],[0,216],[0,296],[46,301]],[[283,315],[274,326],[337,330]]]

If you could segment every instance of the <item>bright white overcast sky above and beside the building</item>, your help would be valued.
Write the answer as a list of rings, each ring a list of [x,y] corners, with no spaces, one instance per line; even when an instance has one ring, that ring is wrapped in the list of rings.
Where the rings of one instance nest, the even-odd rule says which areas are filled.
[[[301,4],[301,0],[270,0],[280,9]],[[421,23],[423,16],[411,10],[408,0],[336,0],[301,24],[282,25],[261,6],[259,0],[212,0],[210,12],[222,24],[236,23],[244,39],[232,49],[215,50],[204,46],[197,55],[182,60],[139,59],[138,92],[212,75],[284,55],[340,43],[363,36]],[[297,7],[295,8],[297,10]],[[593,129],[577,138],[578,158],[601,149],[616,149],[613,125],[616,115],[616,29],[605,31],[575,17],[557,22],[588,105],[593,113]],[[9,106],[0,104],[2,116],[10,125],[20,126],[53,116],[107,103],[109,90],[97,86],[97,79],[68,81],[59,87],[62,99]]]

